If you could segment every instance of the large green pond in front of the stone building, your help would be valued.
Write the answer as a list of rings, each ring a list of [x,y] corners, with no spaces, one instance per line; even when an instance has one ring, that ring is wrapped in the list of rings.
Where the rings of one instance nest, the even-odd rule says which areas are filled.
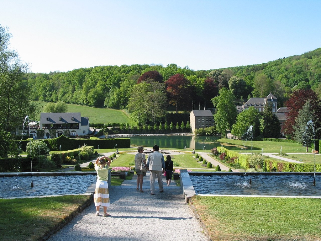
[[[162,148],[190,148],[195,150],[211,150],[214,147],[223,146],[229,150],[240,151],[244,146],[235,146],[230,143],[221,143],[215,136],[133,136],[130,137],[130,144],[136,146],[153,147],[155,144]],[[251,149],[251,143],[244,141],[244,145]],[[253,148],[253,150],[260,150]]]

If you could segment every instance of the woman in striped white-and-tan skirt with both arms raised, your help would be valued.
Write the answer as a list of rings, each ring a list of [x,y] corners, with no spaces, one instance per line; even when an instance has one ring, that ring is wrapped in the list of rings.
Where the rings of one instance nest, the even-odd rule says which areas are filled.
[[[106,165],[106,160],[107,165]],[[104,208],[104,217],[110,216],[107,213],[109,207],[109,191],[108,191],[108,169],[111,159],[107,156],[100,156],[96,159],[95,170],[97,172],[97,182],[94,194],[94,203],[96,206],[96,216],[99,215],[99,206]]]

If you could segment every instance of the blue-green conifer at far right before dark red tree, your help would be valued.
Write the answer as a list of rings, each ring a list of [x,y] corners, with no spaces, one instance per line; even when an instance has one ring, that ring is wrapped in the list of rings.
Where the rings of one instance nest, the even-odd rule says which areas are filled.
[[[298,117],[295,120],[294,129],[294,139],[300,143],[302,146],[311,146],[312,139],[315,139],[316,130],[313,125],[312,119],[314,117],[314,111],[311,107],[310,100],[308,100],[303,108],[299,111]]]

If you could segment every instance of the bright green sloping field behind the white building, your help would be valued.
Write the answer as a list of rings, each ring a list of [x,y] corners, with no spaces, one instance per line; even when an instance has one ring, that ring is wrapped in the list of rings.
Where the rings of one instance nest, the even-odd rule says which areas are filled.
[[[37,101],[37,103],[40,104],[40,112],[43,112],[47,102]],[[89,123],[129,123],[129,125],[136,125],[122,110],[67,104],[67,112],[80,112],[82,116],[89,117]],[[35,119],[39,121],[40,114]]]

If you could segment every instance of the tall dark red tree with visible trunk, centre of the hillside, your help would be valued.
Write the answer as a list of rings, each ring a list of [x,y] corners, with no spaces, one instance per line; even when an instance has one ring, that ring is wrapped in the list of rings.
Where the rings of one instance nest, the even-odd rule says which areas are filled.
[[[190,97],[189,81],[180,74],[171,76],[166,81],[166,91],[169,94],[169,103],[175,106],[175,112],[177,113],[177,106],[184,106],[187,104],[187,100]]]

